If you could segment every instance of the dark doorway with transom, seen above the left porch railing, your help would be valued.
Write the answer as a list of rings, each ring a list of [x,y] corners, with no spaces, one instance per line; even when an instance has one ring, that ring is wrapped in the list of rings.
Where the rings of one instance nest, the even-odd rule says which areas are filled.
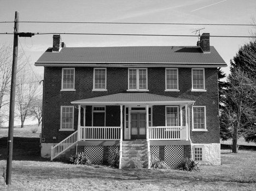
[[[105,107],[94,106],[92,111],[92,126],[105,127]]]

